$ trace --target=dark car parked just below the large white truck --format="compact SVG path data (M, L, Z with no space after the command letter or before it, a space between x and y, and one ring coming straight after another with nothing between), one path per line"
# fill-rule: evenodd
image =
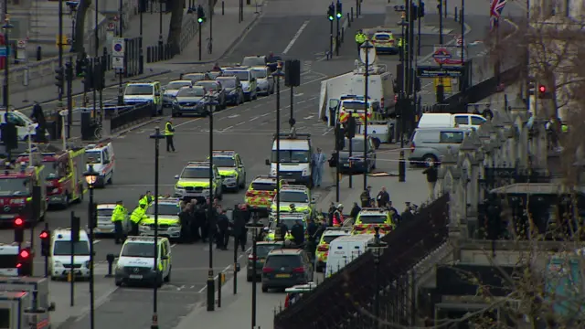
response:
M367 161L364 160L364 135L356 135L352 139L352 156L349 156L349 140L346 138L345 147L339 153L339 170L342 173L369 173L376 169L376 147L367 137Z

